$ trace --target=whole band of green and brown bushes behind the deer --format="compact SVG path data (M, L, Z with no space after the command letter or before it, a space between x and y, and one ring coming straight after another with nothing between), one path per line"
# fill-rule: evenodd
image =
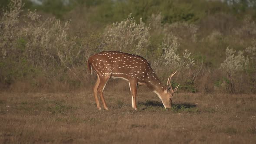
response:
M163 83L178 70L181 91L256 93L255 0L0 0L0 8L1 90L90 88L89 56L118 50L148 59Z

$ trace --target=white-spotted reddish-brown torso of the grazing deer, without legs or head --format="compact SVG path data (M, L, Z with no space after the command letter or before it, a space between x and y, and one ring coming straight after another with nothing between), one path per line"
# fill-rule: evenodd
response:
M92 68L99 76L146 79L153 75L148 61L141 56L124 52L103 51L89 58Z

